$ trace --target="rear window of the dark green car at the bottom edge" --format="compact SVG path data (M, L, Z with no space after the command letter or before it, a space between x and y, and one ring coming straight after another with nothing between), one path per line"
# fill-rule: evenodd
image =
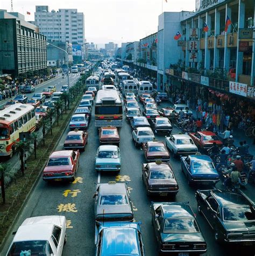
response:
M192 218L178 218L166 219L164 226L164 233L197 233L199 227L195 219Z

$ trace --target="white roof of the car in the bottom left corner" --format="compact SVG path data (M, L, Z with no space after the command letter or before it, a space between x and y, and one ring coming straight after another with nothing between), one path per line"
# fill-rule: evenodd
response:
M27 218L20 225L13 242L31 240L49 240L54 225L62 227L65 216L38 216Z

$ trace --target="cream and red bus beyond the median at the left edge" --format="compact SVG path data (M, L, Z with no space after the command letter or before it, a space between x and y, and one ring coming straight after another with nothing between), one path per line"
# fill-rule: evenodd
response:
M0 112L0 156L9 156L15 151L19 133L34 132L36 113L29 104L17 103Z

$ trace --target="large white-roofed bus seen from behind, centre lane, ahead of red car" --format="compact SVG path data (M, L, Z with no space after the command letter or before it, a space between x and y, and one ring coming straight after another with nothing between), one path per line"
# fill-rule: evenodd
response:
M122 100L118 91L112 89L99 90L96 94L95 103L95 126L123 125Z

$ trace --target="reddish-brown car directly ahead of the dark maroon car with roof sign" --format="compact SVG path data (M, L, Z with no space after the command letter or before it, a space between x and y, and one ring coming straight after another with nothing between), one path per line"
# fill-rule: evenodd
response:
M168 162L170 160L169 152L162 141L148 141L143 144L144 156L147 162L161 160Z

